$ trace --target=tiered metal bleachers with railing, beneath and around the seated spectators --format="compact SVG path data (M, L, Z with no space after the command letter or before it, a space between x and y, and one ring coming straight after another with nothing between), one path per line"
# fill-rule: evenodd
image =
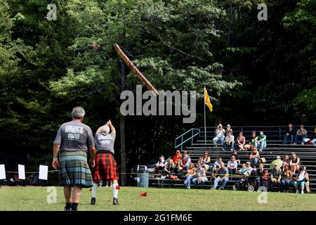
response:
M294 126L294 129L297 130L299 126ZM305 126L308 131L308 139L315 139L315 126ZM204 152L208 152L211 156L211 164L213 164L219 157L223 158L225 164L230 159L231 153L230 150L224 151L221 146L217 148L213 145L214 130L216 127L206 127L206 139L204 127L198 129L190 129L184 134L178 136L175 141L175 150L179 149L187 150L192 162L196 163L200 157L203 156ZM225 127L224 127L225 129ZM272 160L275 160L279 155L282 160L284 155L289 155L291 158L291 153L295 152L296 155L301 159L301 165L306 168L306 172L309 174L310 179L310 191L316 191L316 148L309 143L300 143L297 144L284 144L284 134L286 131L286 126L256 126L256 127L232 127L233 135L235 136L235 141L239 132L242 131L246 137L246 142L249 142L251 137L251 131L256 131L257 135L259 131L264 131L264 134L267 136L267 148L265 148L261 153L260 157L265 158L265 167L269 167ZM249 154L251 151L238 151L239 160L242 163L249 161ZM173 153L172 153L173 154ZM241 165L238 165L239 169ZM207 172L206 176L208 181L205 184L205 188L211 188L211 169ZM239 177L232 177L232 181L229 181L226 185L227 189L231 189ZM151 186L159 187L182 187L183 188L183 179L178 180L159 180L157 178L150 178Z

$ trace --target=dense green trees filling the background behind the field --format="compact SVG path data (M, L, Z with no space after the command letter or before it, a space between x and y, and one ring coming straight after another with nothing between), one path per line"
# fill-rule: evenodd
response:
M45 18L51 3L56 21ZM257 19L260 3L267 21ZM48 163L58 127L82 105L93 130L109 119L118 131L125 124L128 165L170 155L175 136L203 124L204 86L209 126L310 124L315 8L315 0L0 0L1 148ZM119 94L140 81L114 43L157 89L197 91L195 124L122 120Z

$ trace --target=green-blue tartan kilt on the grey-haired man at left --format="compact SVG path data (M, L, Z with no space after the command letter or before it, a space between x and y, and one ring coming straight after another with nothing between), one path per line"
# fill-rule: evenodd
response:
M61 151L59 163L61 186L81 186L81 188L92 186L93 181L86 152Z

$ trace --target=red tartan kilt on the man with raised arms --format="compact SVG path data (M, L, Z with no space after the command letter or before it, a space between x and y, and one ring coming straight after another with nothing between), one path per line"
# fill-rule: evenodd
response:
M119 179L119 170L117 161L113 155L100 153L96 155L96 167L93 169L93 182L98 184L99 181L112 181Z

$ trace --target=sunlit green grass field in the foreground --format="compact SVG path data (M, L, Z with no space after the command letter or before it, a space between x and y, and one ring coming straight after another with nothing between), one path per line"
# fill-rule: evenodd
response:
M47 187L1 187L0 210L58 211L65 205L62 187L57 203L47 203ZM147 192L148 197L139 197ZM112 188L99 188L96 205L90 205L91 191L83 189L80 211L91 210L316 210L316 195L268 193L268 203L258 203L258 192L186 190L180 188L121 187L120 205L112 205Z

